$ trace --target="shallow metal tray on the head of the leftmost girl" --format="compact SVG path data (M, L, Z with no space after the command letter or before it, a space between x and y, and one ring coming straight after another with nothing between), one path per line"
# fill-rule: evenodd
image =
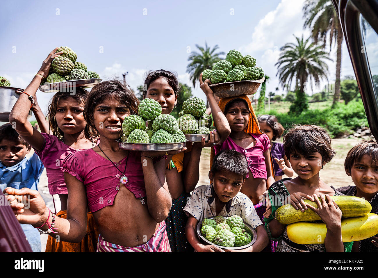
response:
M91 88L95 86L96 84L100 83L101 80L102 79L93 78L93 79L62 81L62 82L50 83L46 85L40 85L39 90L45 93L52 93L52 92L73 93L73 89L76 87Z

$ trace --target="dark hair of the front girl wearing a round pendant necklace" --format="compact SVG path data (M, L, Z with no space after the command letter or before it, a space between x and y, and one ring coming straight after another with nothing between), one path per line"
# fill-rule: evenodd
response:
M109 80L101 82L88 93L87 103L84 106L84 119L87 121L85 126L85 137L88 139L99 136L99 132L96 130L93 123L93 113L95 107L103 103L105 99L114 98L120 103L124 104L130 110L130 114L138 113L139 100L134 95L130 86L123 84L118 80Z

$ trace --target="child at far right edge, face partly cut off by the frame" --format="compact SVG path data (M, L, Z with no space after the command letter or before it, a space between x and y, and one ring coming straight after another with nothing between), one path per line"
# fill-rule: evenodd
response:
M371 213L378 214L378 144L373 140L356 144L348 152L344 167L355 185L337 190L345 195L366 199L372 205ZM352 252L378 252L377 242L378 235L355 241Z

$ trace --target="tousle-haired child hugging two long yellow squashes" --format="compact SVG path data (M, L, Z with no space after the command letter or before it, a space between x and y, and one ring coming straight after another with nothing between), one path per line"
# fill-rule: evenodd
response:
M271 240L279 241L277 252L350 252L353 242L343 244L341 238L341 210L330 196L339 195L319 177L319 171L335 156L331 138L319 126L296 126L283 136L283 148L298 177L286 178L273 183L268 189L271 210L267 210L265 228ZM321 198L321 201L318 199ZM286 232L287 225L280 224L274 215L276 210L288 202L296 210L314 210L325 223L327 235L324 244L296 244ZM314 208L304 202L310 199L318 204ZM277 202L277 203L276 203Z

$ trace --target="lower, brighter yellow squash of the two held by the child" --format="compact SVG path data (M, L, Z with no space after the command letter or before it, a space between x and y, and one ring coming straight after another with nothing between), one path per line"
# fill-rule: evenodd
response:
M324 243L327 228L324 223L297 222L287 225L288 238L297 244ZM378 215L369 213L341 220L343 242L360 241L378 233Z

